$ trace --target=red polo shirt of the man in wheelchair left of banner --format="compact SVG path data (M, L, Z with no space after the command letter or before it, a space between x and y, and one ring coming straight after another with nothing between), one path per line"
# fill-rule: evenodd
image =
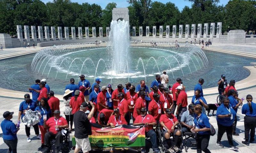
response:
M52 132L53 134L57 134L61 130L61 128L59 128L59 130L56 131L55 126L56 125L64 126L67 124L68 124L67 120L60 116L59 119L56 119L56 120L54 119L54 117L51 117L46 121L45 125L49 127L50 132Z

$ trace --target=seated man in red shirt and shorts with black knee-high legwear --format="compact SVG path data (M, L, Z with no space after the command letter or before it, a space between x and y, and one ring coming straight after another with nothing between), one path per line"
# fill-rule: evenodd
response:
M179 151L179 148L177 147L177 143L180 140L181 132L178 129L174 129L174 127L179 124L180 122L178 119L172 114L171 109L166 109L165 114L161 115L160 117L160 125L163 128L164 131L164 137L166 139L167 145L169 146L169 151L173 152L172 148L175 150L175 152ZM170 137L173 137L174 143L172 144Z

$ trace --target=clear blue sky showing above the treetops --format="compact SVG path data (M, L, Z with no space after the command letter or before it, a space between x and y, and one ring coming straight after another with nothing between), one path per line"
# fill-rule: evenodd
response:
M52 0L42 0L44 3L47 3L49 1L52 1ZM71 0L72 2L77 2L79 4L82 4L82 3L89 3L89 4L98 4L101 6L102 9L104 9L106 7L106 5L108 3L111 3L111 2L115 2L117 4L117 7L127 7L129 6L128 2L126 2L126 0ZM184 0L152 0L152 1L158 1L158 2L162 2L162 3L167 3L167 2L172 2L174 3L178 8L179 10L181 11L184 6L191 6L191 2L188 2L188 1L184 1ZM228 3L229 0L220 0L220 3L219 5L226 5Z

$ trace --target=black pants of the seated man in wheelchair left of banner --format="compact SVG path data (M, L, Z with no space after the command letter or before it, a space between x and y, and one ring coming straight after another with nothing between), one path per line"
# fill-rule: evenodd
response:
M57 134L53 134L52 132L46 132L46 134L44 135L44 145L47 145L49 147L53 138L56 139L55 148L60 147L60 142L62 142L61 131L59 131Z

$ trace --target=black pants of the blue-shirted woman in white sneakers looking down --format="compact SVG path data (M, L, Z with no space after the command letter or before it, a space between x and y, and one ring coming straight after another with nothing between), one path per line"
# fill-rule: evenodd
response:
M228 137L229 145L234 146L233 137L232 137L232 130L233 130L232 125L231 126L223 126L223 125L218 123L217 142L221 141L221 138L222 138L223 134L226 132L227 137Z

